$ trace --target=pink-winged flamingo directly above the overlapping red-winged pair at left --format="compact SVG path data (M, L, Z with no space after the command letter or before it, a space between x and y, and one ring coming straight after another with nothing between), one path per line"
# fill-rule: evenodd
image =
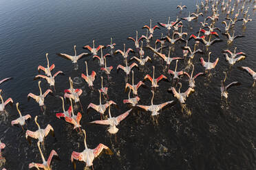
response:
M81 90L79 88L73 88L73 81L71 80L71 77L69 78L69 80L70 80L70 88L64 90L64 93L65 93L64 98L67 97L67 98L73 99L75 103L77 103L77 102L80 103L79 96L82 95L83 90Z

